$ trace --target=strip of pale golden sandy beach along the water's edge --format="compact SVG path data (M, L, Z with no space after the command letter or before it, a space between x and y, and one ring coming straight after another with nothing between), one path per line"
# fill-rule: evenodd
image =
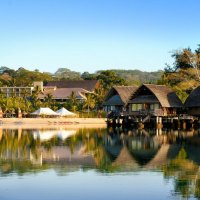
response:
M1 118L0 129L106 128L105 118Z

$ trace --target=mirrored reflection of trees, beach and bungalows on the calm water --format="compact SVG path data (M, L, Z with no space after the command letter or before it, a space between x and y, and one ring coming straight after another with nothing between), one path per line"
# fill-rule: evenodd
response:
M174 195L200 198L199 145L200 130L1 129L0 173L153 170L174 180Z

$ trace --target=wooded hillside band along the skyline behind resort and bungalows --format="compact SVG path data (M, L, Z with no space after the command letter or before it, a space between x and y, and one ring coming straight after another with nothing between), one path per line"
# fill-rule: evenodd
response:
M76 72L68 68L59 68L55 73L40 72L39 70L17 70L6 66L0 67L0 86L30 86L34 81L58 81L58 80L95 80L103 71L113 71L117 77L122 78L128 85L139 85L141 83L157 83L161 80L163 71L143 72L140 70L101 70L93 74L89 72ZM112 78L111 78L112 79Z

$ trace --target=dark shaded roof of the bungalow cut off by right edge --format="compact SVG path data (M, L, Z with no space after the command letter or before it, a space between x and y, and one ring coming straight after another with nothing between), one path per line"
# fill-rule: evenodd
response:
M200 107L200 86L188 96L185 101L185 107Z

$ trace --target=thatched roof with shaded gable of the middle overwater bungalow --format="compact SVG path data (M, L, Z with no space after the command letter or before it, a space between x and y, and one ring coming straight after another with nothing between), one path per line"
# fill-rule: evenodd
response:
M143 91L143 94L140 94L141 91ZM145 98L142 98L141 103L152 103L157 98L162 107L182 107L182 103L176 93L165 85L143 84L131 95L128 103L135 103L134 99L142 95L146 96L146 102L144 102ZM152 95L156 98L152 98ZM137 103L139 102L137 101Z

